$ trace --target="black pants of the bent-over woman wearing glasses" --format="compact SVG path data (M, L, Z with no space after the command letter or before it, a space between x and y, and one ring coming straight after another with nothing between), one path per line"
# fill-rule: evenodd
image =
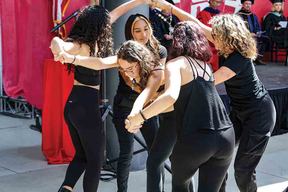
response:
M149 151L147 167L147 192L162 192L164 162L173 151L177 139L175 111L159 114L160 127ZM189 185L190 192L195 192L194 179Z

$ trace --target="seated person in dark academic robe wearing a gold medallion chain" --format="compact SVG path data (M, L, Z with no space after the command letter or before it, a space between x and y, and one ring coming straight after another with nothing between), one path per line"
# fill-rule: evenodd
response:
M174 5L172 0L166 1ZM149 16L154 28L154 36L169 51L173 43L173 37L170 35L170 32L173 30L175 24L179 22L179 19L171 14L171 10L162 9L159 11L158 9L154 9L151 10L150 14L155 14L155 16Z

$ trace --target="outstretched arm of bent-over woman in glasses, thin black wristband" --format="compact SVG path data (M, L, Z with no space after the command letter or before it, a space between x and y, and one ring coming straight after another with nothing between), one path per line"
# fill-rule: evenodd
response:
M94 70L108 69L118 66L117 56L111 56L103 59L98 57L70 55L66 52L60 52L59 61L61 63L73 63L75 65L84 66Z

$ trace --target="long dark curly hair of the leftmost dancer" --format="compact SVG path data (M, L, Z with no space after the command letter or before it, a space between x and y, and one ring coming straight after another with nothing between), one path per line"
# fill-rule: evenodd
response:
M91 57L94 57L96 46L98 57L103 58L105 52L108 56L112 55L114 45L109 11L99 5L82 8L65 41L87 44ZM68 75L74 70L75 65L67 64Z

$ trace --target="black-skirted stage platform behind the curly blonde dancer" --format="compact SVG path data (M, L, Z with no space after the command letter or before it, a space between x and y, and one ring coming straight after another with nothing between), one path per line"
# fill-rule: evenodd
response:
M260 81L268 90L276 108L276 124L272 135L288 132L288 66L284 63L268 62L266 66L255 66ZM230 98L224 83L216 85L227 113L230 112Z

